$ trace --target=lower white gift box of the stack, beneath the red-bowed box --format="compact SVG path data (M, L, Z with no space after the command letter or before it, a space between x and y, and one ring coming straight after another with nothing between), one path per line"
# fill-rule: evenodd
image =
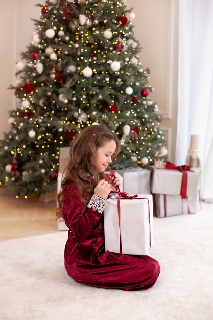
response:
M198 195L181 199L181 196L176 195L153 194L154 214L158 218L165 218L182 213L196 213L198 198Z

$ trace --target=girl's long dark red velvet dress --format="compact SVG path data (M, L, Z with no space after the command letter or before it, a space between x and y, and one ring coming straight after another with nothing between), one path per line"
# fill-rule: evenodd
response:
M103 213L92 204L82 215L83 207L77 187L68 184L63 204L63 219L69 228L64 252L68 275L77 282L99 288L125 291L151 288L160 273L158 262L149 256L105 252Z

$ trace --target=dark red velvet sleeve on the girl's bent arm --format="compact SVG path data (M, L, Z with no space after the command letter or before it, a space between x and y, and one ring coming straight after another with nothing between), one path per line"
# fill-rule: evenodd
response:
M86 239L101 217L98 210L92 207L87 207L84 214L82 214L83 209L84 204L80 200L78 188L68 184L64 192L63 219L79 241Z

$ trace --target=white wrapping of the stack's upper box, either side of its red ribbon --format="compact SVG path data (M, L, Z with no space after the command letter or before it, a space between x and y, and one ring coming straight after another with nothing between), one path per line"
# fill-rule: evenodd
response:
M196 196L198 190L199 173L187 172L187 196ZM159 194L180 195L182 172L171 169L152 169L151 192Z

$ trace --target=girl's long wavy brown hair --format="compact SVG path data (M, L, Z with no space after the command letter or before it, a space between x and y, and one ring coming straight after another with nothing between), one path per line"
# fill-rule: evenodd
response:
M98 182L104 178L104 174L97 170L96 151L111 140L116 143L116 149L112 155L112 159L114 159L120 152L120 141L116 134L105 125L93 125L85 128L72 142L69 161L63 173L65 177L61 182L61 191L57 195L57 218L62 216L64 190L70 182L77 186L85 211L91 193L93 193ZM110 168L108 167L107 170L110 170Z

